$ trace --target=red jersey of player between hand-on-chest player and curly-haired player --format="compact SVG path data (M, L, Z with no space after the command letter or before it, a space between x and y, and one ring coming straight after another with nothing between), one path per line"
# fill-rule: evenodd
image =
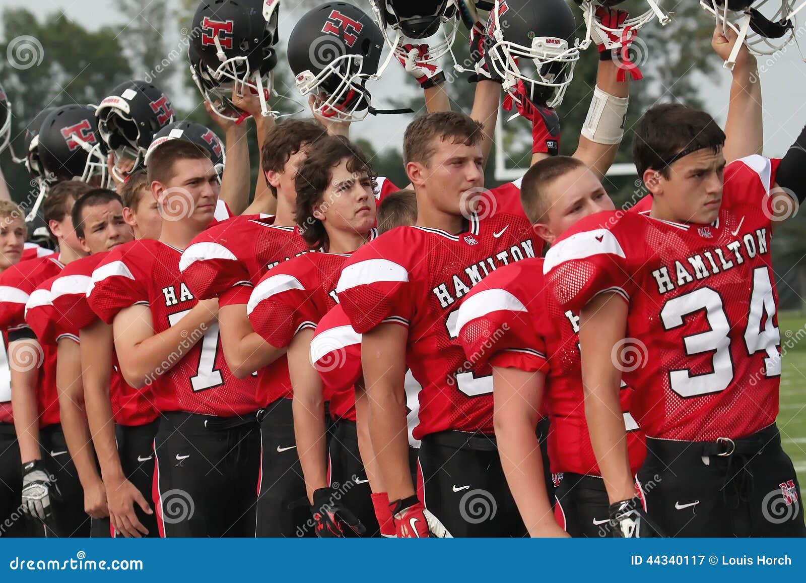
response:
M219 306L246 304L252 287L282 261L310 252L294 227L274 224L274 217L235 217L198 235L182 253L179 268L200 299L218 297ZM285 355L257 372L263 405L291 397Z

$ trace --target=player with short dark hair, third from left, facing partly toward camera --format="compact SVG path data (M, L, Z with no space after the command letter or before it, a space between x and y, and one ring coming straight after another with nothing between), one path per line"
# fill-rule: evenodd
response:
M79 310L74 298L86 298L89 275L103 254L128 243L134 235L123 221L123 204L112 190L94 189L82 194L70 214L79 244L89 256L72 261L56 277L39 285L28 299L25 319L40 344L56 346L56 389L64 439L84 491L85 512L93 518L92 536L108 537L106 491L94 452L87 447L90 434L81 383L78 333L88 310Z

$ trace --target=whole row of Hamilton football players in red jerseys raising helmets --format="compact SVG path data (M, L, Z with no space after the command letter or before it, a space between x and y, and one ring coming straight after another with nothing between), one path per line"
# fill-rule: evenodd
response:
M48 113L26 158L58 252L23 258L23 211L0 202L0 535L806 535L775 426L769 251L806 196L806 131L783 159L760 155L754 56L718 26L725 131L687 106L647 110L632 130L647 194L616 210L600 180L640 24L580 2L600 63L579 147L559 156L551 106L577 45L570 8L549 3L539 38L566 45L540 56L538 80L499 71L485 39L511 31L509 10L546 23L546 6L494 2L474 23L471 115L450 111L428 45L394 40L429 111L403 137L403 190L347 138L372 108L358 77L323 90L289 41L297 84L315 78L318 93L314 120L283 122L261 81L276 57L247 65L254 87L237 77L226 50L243 48L241 24L276 27L272 0L202 2L194 19L193 72L226 159L142 81L98 110ZM305 22L345 50L376 26L344 2ZM502 86L533 156L522 179L485 189ZM251 203L249 116L265 178Z

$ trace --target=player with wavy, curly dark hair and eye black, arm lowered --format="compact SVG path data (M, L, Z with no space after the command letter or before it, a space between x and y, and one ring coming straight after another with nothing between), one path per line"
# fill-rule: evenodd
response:
M288 349L294 435L319 536L378 531L361 463L354 399L323 394L310 361L311 336L336 303L334 289L344 261L374 235L374 181L366 156L346 138L318 140L297 172L295 217L310 248L322 252L272 268L247 304L252 328L273 347ZM329 448L326 400L334 421Z

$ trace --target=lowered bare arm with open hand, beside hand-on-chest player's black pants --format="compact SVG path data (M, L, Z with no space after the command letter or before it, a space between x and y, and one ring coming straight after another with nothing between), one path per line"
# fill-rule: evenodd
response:
M137 504L146 514L152 514L153 510L139 489L127 480L120 464L110 399L113 343L112 326L101 319L81 329L81 379L89 431L106 488L110 521L121 535L139 537L147 535L148 529L137 518L134 505Z

